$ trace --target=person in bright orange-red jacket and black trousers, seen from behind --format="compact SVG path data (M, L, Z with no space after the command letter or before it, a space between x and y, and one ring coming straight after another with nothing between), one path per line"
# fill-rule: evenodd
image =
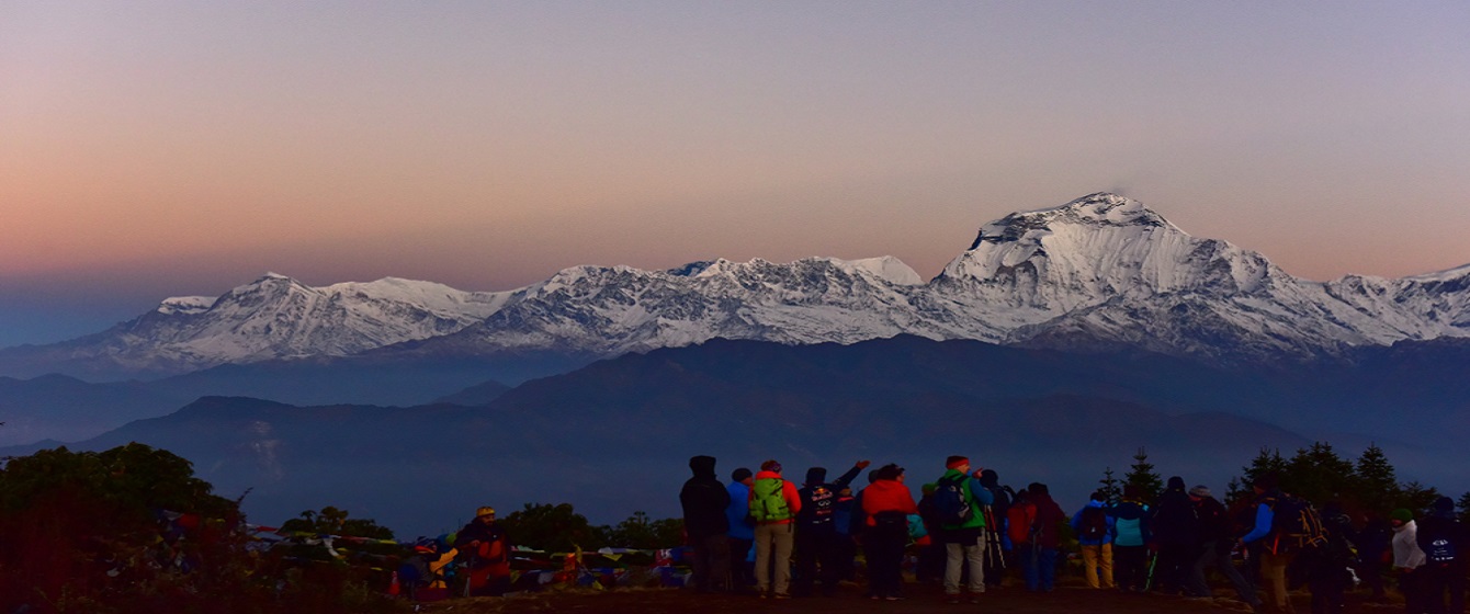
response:
M919 514L914 495L904 486L904 470L885 464L873 483L863 489L863 511L867 530L863 548L867 551L867 577L873 599L903 599L903 561L908 545L908 514Z

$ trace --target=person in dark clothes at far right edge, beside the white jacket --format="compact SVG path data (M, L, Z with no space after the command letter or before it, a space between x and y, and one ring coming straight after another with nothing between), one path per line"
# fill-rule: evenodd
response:
M1455 517L1455 502L1448 496L1435 499L1433 507L1419 521L1416 543L1424 552L1424 599L1432 613L1464 614L1466 561L1470 560L1470 536ZM1448 610L1445 593L1449 593Z

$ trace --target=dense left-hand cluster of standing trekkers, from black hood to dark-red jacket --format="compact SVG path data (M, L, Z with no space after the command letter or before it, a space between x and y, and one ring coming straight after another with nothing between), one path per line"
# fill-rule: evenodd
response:
M911 543L942 552L942 582L951 602L978 601L998 586L1008 566L1019 566L1029 590L1051 590L1067 516L1047 485L1016 492L989 469L948 457L944 473L914 499L907 473L885 464L853 480L870 466L853 464L828 480L811 467L801 486L782 476L775 460L731 473L722 483L716 460L689 460L694 477L679 494L685 533L692 549L692 583L701 592L747 592L785 599L833 595L854 579L861 545L867 561L867 596L903 599L903 563ZM754 549L754 557L751 557ZM753 560L751 560L753 558ZM792 566L795 576L792 577Z

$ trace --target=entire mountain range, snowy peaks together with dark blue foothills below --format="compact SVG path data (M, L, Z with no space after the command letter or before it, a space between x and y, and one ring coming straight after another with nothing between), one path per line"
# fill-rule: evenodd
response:
M487 501L675 516L694 454L916 479L972 454L1079 505L1139 447L1223 489L1261 447L1376 442L1458 494L1467 297L1470 266L1304 281L1111 194L991 222L928 282L889 257L507 292L268 275L0 350L0 455L140 441L250 489L257 521L338 505L423 532Z

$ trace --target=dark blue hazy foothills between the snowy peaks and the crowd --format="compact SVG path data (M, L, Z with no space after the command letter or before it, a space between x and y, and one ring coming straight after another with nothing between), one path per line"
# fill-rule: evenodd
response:
M898 461L913 485L942 473L945 455L969 454L1007 483L1050 483L1070 508L1105 467L1126 473L1139 447L1164 476L1223 491L1263 447L1291 455L1330 441L1355 458L1376 442L1401 479L1458 494L1470 489L1460 472L1470 455L1457 445L1470 435L1470 386L1463 367L1414 366L1466 364L1470 344L1442 345L1360 357L1366 367L1280 373L907 335L848 345L714 339L490 386L472 392L491 398L481 405L207 397L72 448L171 449L222 495L248 489L254 521L337 505L410 533L454 529L482 502L566 501L600 521L637 510L676 516L694 454L719 457L722 476L778 458L797 480L810 466Z

